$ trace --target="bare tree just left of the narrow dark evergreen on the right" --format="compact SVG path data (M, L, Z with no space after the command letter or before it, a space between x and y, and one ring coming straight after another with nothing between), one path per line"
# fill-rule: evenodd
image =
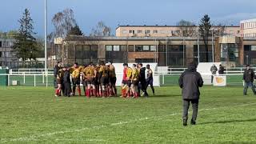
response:
M179 29L182 31L181 35L182 37L195 37L196 35L196 27L193 22L181 20L177 23L179 26Z

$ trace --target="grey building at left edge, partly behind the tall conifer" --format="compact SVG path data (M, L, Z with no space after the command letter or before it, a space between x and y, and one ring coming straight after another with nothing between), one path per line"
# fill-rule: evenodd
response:
M15 57L12 46L14 46L14 38L0 35L0 66L17 67L19 62Z

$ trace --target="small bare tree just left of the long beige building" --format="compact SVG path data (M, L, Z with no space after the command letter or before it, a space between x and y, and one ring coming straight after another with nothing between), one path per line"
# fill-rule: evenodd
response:
M112 36L111 28L100 21L97 26L91 30L90 36Z

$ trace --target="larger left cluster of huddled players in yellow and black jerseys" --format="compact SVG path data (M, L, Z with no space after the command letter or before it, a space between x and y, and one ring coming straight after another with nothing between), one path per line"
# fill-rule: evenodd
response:
M72 79L72 90L70 82L70 74ZM74 95L76 88L79 96L81 96L80 83L83 85L83 90L87 98L90 96L95 97L109 97L117 95L116 74L114 66L111 62L101 62L100 65L94 66L92 62L86 66L78 66L78 63L74 63L74 66L62 66L58 62L54 68L54 86L55 96L61 96L61 91L64 96Z

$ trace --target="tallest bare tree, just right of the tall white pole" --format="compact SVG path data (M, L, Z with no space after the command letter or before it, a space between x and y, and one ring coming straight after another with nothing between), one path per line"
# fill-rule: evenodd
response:
M74 11L71 9L65 9L57 14L54 14L51 22L54 24L54 37L65 38L66 34L71 30L72 27L76 26L74 19Z

